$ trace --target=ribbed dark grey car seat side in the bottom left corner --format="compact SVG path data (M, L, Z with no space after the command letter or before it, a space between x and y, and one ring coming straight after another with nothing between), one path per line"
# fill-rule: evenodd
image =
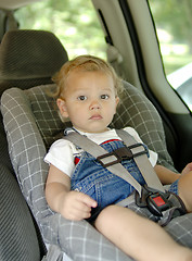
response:
M3 164L0 164L0 260L39 261L31 215L16 179Z

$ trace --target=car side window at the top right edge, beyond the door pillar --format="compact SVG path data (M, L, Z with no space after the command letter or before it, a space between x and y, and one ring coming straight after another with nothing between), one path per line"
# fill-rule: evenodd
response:
M192 110L192 1L149 0L169 84Z

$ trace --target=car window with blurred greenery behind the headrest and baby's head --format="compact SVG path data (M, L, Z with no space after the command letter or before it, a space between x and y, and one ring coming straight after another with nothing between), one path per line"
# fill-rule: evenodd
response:
M46 29L54 33L69 59L80 54L106 58L106 44L90 0L49 0L15 12L20 29Z

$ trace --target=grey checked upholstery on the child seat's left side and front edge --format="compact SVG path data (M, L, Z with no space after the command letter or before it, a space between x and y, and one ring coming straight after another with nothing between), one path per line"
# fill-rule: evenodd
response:
M1 99L1 111L12 164L22 192L39 224L44 241L59 245L73 260L90 261L91 257L93 260L102 261L130 260L89 223L67 221L60 214L53 213L46 202L43 189L49 166L43 162L46 147L37 127L40 119L35 119L31 111L33 108L36 108L35 114L40 115L39 109L41 111L44 108L42 109L42 112L44 111L42 119L49 117L53 122L59 121L57 114L52 115L52 100L49 105L47 99L44 100L46 88L49 86L35 87L26 91L12 88L8 89ZM27 97L29 92L30 98ZM41 97L39 102L37 97ZM31 105L29 99L39 105ZM49 121L50 132L55 132L56 124L52 121Z

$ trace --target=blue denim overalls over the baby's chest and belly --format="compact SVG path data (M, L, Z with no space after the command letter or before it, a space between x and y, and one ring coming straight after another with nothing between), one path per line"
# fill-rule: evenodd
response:
M121 141L101 145L108 152L124 147ZM141 184L145 182L133 160L123 161L123 165ZM72 189L82 191L97 200L100 209L127 198L135 188L123 178L104 169L91 154L82 152L72 175Z

